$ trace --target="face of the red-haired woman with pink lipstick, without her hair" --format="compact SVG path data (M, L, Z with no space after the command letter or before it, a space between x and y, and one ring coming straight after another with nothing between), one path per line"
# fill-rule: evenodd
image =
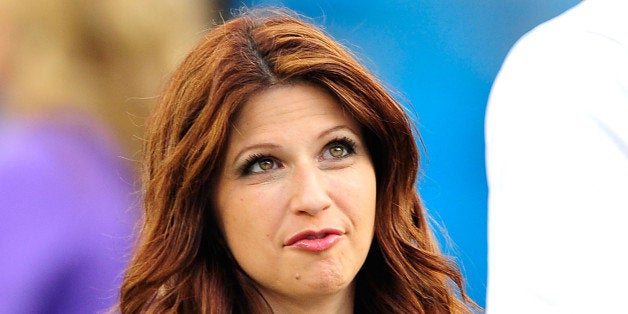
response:
M324 89L275 86L231 131L216 208L271 305L352 300L373 240L375 171L360 127Z

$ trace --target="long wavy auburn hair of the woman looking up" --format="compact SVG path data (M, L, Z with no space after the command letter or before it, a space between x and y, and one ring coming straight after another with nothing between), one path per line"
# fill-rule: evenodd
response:
M144 224L121 289L123 313L269 310L219 231L213 191L238 109L257 92L296 82L339 100L363 128L374 161L375 239L356 278L356 310L469 311L462 275L439 252L415 188L419 152L402 106L321 30L263 10L210 31L150 119Z

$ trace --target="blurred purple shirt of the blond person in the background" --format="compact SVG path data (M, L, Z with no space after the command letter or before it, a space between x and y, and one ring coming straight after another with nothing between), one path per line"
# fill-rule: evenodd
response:
M117 302L135 180L83 115L0 124L0 313L98 313Z

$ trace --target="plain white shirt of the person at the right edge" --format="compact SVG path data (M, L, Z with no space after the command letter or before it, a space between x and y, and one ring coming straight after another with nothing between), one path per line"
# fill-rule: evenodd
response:
M628 313L628 1L513 47L486 114L488 313Z

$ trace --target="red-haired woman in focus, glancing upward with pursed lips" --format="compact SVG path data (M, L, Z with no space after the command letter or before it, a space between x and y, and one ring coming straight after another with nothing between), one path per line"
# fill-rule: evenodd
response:
M469 312L412 134L374 77L289 13L212 30L150 121L122 312Z

